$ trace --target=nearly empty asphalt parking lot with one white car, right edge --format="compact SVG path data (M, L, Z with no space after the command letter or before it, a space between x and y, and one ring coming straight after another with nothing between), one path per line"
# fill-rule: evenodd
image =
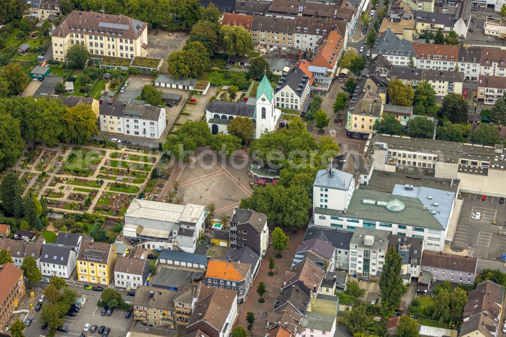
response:
M501 229L506 230L506 205L499 204L497 197L481 200L478 194L461 193L461 198L451 249L469 249L474 257L500 260L506 252L506 236L499 235Z

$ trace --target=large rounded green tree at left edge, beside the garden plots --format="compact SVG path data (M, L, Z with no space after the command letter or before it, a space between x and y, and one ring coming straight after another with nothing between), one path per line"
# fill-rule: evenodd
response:
M25 142L21 138L20 122L0 112L0 171L14 166L23 154ZM5 202L5 199L3 199Z

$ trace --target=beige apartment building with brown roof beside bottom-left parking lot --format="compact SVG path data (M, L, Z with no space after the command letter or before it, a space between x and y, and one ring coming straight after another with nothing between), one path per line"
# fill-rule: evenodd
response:
M175 330L176 291L139 286L135 291L134 320L154 327Z

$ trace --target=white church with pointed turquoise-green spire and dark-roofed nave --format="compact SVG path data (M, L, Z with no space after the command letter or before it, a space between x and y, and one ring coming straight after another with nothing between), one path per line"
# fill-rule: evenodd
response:
M265 75L257 88L255 100L250 98L246 103L213 101L205 106L205 120L213 135L220 132L227 134L230 121L237 116L244 116L253 119L255 138L260 138L263 132L276 129L281 114L281 110L275 107L274 90Z

